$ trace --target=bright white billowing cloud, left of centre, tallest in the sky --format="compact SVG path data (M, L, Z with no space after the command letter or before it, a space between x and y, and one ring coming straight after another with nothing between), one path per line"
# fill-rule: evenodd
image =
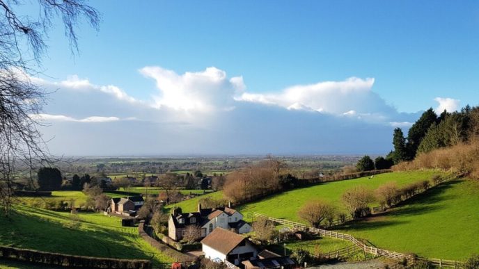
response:
M208 67L202 72L176 74L162 67L143 67L141 74L155 79L159 95L154 97L155 107L168 107L178 111L211 112L217 108L228 110L233 96L246 89L243 78L228 79L226 72Z

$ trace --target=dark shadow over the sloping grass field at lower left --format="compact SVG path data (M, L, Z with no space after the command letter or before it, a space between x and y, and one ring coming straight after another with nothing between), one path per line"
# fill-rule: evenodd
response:
M120 259L150 259L154 255L141 250L141 245L134 246L141 238L121 227L118 230L102 227L71 229L61 222L22 211L14 213L10 220L0 219L0 225L0 245Z

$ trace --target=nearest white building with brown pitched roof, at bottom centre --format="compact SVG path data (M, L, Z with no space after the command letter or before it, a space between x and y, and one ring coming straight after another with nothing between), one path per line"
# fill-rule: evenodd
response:
M205 258L212 261L229 261L236 266L258 256L256 245L248 238L221 227L203 238L201 245Z

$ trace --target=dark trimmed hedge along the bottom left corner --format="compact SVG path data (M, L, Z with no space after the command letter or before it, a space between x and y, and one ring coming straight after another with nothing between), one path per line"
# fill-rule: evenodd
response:
M0 257L32 263L44 263L52 266L79 267L79 268L151 268L151 262L140 259L111 259L91 256L74 256L61 253L26 250L17 247L0 246Z

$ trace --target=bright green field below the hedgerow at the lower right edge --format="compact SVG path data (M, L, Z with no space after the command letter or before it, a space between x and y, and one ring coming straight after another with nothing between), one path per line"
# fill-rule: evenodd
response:
M464 261L479 254L479 182L448 182L340 231L386 250Z

